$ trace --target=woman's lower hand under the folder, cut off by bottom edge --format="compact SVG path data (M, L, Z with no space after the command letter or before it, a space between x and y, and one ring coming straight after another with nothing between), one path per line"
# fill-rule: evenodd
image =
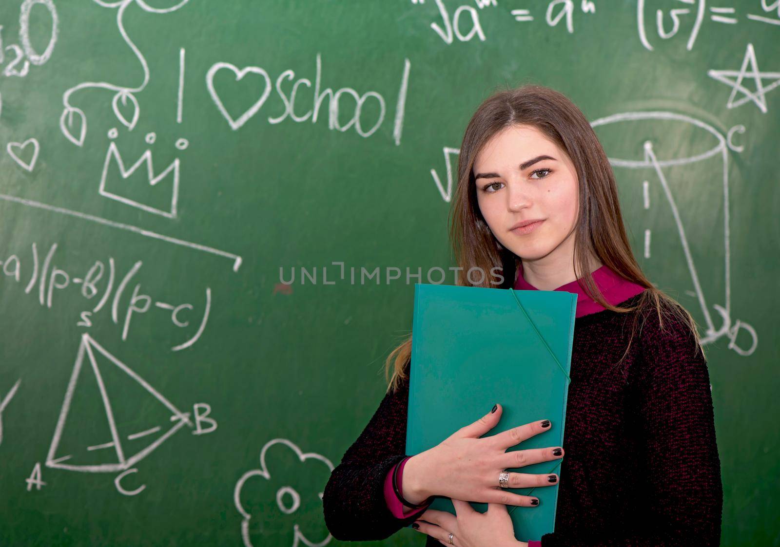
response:
M515 539L512 519L502 503L488 503L480 513L469 503L452 499L456 514L429 509L418 517L417 530L430 535L442 545L456 547L528 547ZM427 522L423 522L427 521ZM452 534L452 544L449 535Z

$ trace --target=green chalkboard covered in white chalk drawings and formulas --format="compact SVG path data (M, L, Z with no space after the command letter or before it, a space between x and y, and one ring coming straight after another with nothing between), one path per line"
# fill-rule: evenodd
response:
M704 334L723 544L780 545L778 23L758 0L0 2L0 545L338 543L319 495L413 284L454 283L463 129L526 82L592 121L641 266Z

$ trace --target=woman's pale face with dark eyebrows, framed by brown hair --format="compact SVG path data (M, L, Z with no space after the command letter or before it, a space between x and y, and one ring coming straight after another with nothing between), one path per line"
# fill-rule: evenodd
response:
M488 141L473 171L480 211L498 242L523 262L571 263L580 200L563 150L535 127L513 125ZM541 222L512 229L523 221Z

